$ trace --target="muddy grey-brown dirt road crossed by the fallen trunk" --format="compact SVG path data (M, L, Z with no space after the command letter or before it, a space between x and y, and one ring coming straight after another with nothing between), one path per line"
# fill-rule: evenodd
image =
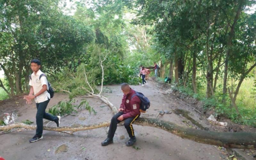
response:
M149 81L149 84L145 86L136 85L131 87L138 92L143 92L151 101L147 114L142 114L141 116L156 117L159 113L158 111L172 111L175 108L180 108L191 112L190 116L204 127L212 127L205 119L201 119L199 113L191 107L189 108L180 100L163 94L163 91L156 88L156 84L153 81ZM119 108L123 96L120 85L105 86L103 95L108 97L110 102ZM68 100L68 95L56 94L48 106L52 106L64 99ZM78 104L80 100L81 98L77 98L76 103ZM77 114L63 117L60 125L94 124L111 119L113 116L111 109L101 100L97 98L88 98L87 100L90 106L97 111L96 115L90 115L87 110L83 109ZM15 122L26 119L36 120L35 103L25 104L22 97L14 99L12 103L0 103L0 105L0 117L3 116L4 112L11 113L15 111L19 115ZM186 118L174 113L160 115L158 118L180 125L195 127L189 124ZM55 127L56 124L50 123L48 126ZM73 135L44 131L43 140L34 143L30 143L28 140L34 136L35 130L1 134L0 156L5 160L216 160L228 157L228 155L225 155L226 152L218 146L181 139L176 135L153 127L134 125L134 129L137 142L133 147L125 146L129 137L124 126L117 127L114 143L105 147L101 146L100 143L106 139L108 128L75 132Z

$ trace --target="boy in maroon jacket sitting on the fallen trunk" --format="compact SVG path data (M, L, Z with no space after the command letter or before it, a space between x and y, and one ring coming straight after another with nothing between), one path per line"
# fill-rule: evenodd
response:
M140 98L132 95L136 94L129 84L123 83L121 85L121 90L124 93L122 98L122 103L118 109L118 113L112 117L111 123L108 130L108 138L101 142L102 146L107 146L110 143L113 143L113 137L116 132L117 124L124 120L124 127L126 128L130 140L126 143L126 146L132 146L136 142L136 137L134 136L134 131L132 123L140 117Z

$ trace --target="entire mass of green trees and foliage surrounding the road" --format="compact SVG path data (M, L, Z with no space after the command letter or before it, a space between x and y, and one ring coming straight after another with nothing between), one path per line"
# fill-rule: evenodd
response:
M139 84L139 66L156 61L161 78L170 76L204 109L255 125L248 114L255 115L256 13L246 12L255 3L81 0L67 14L61 0L2 0L1 98L28 92L34 58L71 98L98 92L103 73L104 85Z

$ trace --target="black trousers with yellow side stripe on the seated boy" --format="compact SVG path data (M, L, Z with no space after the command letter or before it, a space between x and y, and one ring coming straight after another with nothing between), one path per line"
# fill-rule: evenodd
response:
M109 130L108 130L108 138L113 139L116 132L117 124L121 122L117 118L123 114L124 114L123 112L118 112L115 116L112 117ZM124 120L124 127L126 128L130 138L135 137L132 123L139 117L140 115L137 115L135 117L130 117Z

